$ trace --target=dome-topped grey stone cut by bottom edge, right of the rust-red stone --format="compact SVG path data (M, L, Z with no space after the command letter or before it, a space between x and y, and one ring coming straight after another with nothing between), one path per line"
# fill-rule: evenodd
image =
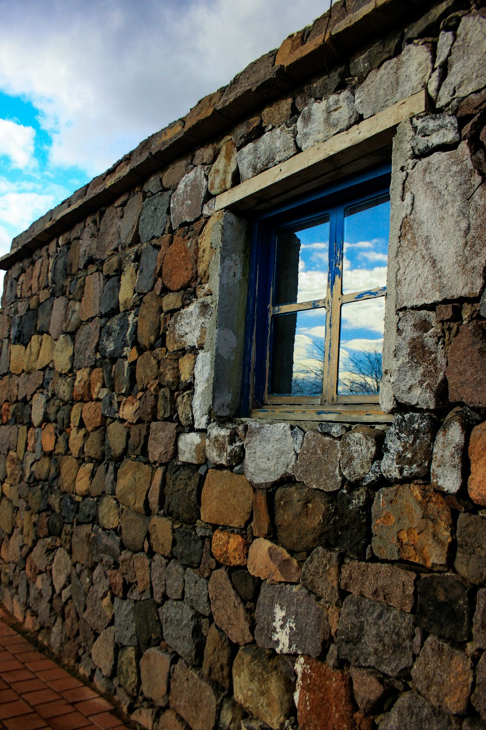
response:
M438 710L418 692L406 692L380 723L380 730L458 730L457 718Z

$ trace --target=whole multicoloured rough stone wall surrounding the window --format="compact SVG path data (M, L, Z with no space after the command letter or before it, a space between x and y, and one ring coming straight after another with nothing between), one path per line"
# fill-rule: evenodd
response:
M0 598L142 726L486 722L485 37L466 0L337 3L4 257ZM391 423L238 418L247 223L216 196L423 88Z

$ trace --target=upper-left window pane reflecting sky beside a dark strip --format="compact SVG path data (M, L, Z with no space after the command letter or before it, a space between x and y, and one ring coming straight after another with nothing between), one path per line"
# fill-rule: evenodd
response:
M329 215L277 231L273 304L324 299L329 257Z

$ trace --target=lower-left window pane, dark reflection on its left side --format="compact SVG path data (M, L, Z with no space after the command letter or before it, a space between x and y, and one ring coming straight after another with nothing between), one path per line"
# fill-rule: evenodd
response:
M270 395L321 396L326 310L272 318Z

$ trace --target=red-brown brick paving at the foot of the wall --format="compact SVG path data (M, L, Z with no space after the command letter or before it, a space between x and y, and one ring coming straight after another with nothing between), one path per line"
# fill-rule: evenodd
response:
M127 730L112 705L15 631L0 607L0 730Z

